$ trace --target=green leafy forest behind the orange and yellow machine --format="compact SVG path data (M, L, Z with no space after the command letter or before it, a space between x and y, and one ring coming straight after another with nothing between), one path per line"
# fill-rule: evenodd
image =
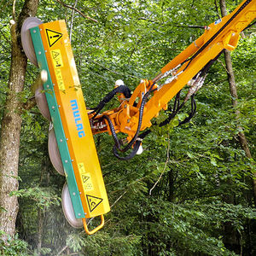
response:
M31 5L26 6L28 3ZM256 254L252 185L255 27L243 32L231 53L238 98L230 94L231 73L227 73L222 55L196 95L194 119L177 126L178 119L189 113L187 104L170 125L152 128L143 142L143 154L120 161L112 154L112 137L95 137L111 212L106 215L104 228L94 236L73 229L63 216L61 189L65 178L51 166L49 123L33 104L31 85L38 69L30 61L26 66L19 48L19 21L24 14L37 15L44 22L66 20L84 99L88 107L95 107L113 90L117 79L134 90L140 79L154 78L203 33L204 26L220 18L220 3L224 1L0 1L0 185L1 193L8 191L9 199L14 199L10 204L16 212L15 199L19 201L16 222L8 218L15 229L6 229L8 222L1 226L0 255ZM228 0L228 13L239 3ZM10 67L15 65L11 56L14 60L15 55L23 55L23 66L16 67L16 74L22 68L26 71L25 79L23 76L18 81L24 82L18 92L10 83L14 73ZM5 161L3 130L11 97L19 106L14 114L19 115L20 124L22 121L20 136L13 138L20 150ZM116 100L108 108L117 105ZM166 113L160 113L156 121L165 118ZM16 131L18 126L14 127ZM249 154L244 144L241 147L241 136L247 138ZM17 166L8 172L3 163L11 166L15 160ZM15 187L4 190L8 178ZM0 210L5 214L3 205Z

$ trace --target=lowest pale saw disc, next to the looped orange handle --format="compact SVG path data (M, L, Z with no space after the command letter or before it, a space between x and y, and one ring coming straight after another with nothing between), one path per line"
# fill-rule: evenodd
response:
M61 205L67 222L76 229L83 228L82 218L76 218L73 211L73 204L69 195L67 183L64 184L61 194Z

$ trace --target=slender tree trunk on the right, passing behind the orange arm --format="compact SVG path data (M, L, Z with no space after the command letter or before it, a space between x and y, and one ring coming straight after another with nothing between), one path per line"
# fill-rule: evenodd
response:
M220 3L221 15L222 16L228 15L225 0L220 0L219 3ZM228 78L229 78L230 94L232 96L232 105L236 109L235 110L236 118L239 119L240 112L237 109L236 80L235 80L235 75L233 72L230 51L228 49L224 50L224 58L225 58L225 63L226 63L226 68L227 68L227 73L228 73ZM238 133L238 139L239 139L241 148L244 150L247 158L251 159L252 154L248 147L247 138L245 137L244 133L242 132L242 130L243 130L242 127L240 125L238 125L238 128L240 130L240 132ZM253 182L252 183L253 183L253 201L254 201L254 206L256 207L256 172L253 173Z

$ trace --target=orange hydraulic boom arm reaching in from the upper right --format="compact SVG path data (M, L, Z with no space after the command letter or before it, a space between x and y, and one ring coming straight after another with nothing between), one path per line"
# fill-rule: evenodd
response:
M240 32L242 32L256 17L256 1L244 0L230 15L216 20L206 26L204 34L184 49L172 61L161 69L161 72L152 80L143 80L137 86L130 99L120 101L119 108L114 108L94 116L91 125L94 134L108 132L113 134L119 131L127 134L127 142L135 143L138 131L150 127L151 119L157 117L160 110L167 109L167 103L172 100L191 79L196 80L191 87L195 90L188 93L186 101L201 88L208 68L224 49L236 49ZM157 85L166 77L166 83ZM195 81L193 81L195 83ZM144 101L152 84L154 84L148 101ZM150 91L149 91L150 92ZM140 111L143 105L143 113ZM108 116L108 119L102 118ZM141 118L140 118L141 116ZM90 119L92 115L89 114ZM108 120L108 121L107 121ZM112 125L109 125L111 121ZM116 145L114 148L117 148ZM126 147L125 147L126 148ZM114 150L115 152L115 150Z

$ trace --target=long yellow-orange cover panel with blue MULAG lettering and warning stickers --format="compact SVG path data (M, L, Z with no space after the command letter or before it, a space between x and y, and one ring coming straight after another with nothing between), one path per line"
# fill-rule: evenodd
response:
M110 210L108 196L65 21L39 28L85 217L102 216Z

